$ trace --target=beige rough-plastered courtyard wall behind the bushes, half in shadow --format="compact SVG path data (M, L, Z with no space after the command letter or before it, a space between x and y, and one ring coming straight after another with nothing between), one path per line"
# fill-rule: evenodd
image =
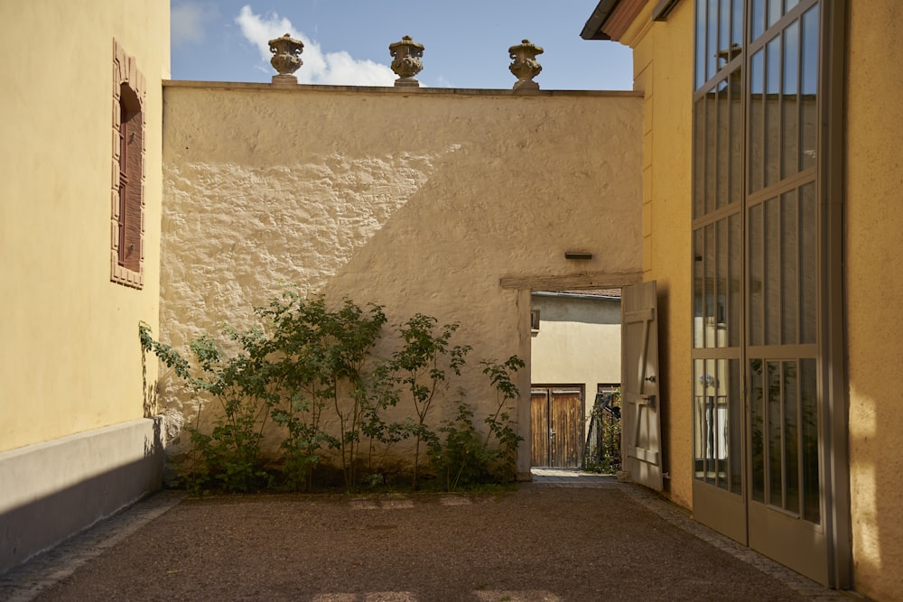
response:
M528 285L501 278L639 269L633 93L173 82L164 99L159 335L174 346L242 326L284 283L383 304L390 324L424 312L461 323L480 415L477 360L529 357ZM191 418L163 387L167 412Z

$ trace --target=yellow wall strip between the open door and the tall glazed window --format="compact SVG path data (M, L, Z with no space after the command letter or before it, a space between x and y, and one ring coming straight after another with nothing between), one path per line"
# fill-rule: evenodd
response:
M648 3L621 42L634 49L634 88L643 100L643 280L658 293L659 391L666 493L693 504L693 416L688 392L693 3L682 2L664 23L651 23ZM651 24L649 24L651 23Z

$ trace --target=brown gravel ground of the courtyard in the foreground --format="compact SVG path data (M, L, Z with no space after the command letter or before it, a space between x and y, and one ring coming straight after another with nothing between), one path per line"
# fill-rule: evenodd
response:
M112 542L82 543L89 558L71 570L77 551L44 560L56 577L40 587L27 565L0 579L0 599L844 599L717 534L701 539L691 532L704 527L638 486L549 485L175 500Z

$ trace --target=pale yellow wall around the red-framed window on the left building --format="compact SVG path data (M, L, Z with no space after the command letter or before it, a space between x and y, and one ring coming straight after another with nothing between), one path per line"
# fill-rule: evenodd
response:
M137 328L159 307L169 2L2 2L0 23L3 451L144 413ZM147 80L142 291L110 282L114 39Z

